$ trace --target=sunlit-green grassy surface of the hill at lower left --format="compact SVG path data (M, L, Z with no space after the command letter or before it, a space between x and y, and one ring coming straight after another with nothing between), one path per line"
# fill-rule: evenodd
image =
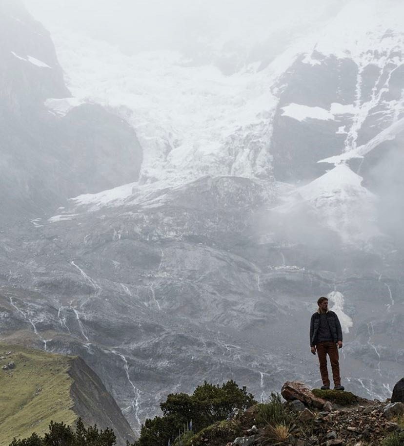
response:
M4 357L0 360L0 446L32 432L42 435L51 420L69 425L76 421L67 373L73 357L1 342L0 357ZM9 361L15 362L15 368L3 370Z

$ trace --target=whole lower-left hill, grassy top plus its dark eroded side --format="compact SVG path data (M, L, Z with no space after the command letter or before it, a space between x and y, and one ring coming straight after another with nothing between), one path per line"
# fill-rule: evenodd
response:
M114 429L117 444L133 440L134 433L100 378L81 359L0 344L3 393L0 442L14 437L42 435L52 421Z

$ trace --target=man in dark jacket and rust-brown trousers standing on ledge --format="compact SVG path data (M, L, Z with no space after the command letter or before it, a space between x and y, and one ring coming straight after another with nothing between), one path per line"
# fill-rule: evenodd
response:
M328 379L327 354L330 357L332 378L335 390L343 390L340 377L338 349L342 348L342 329L338 316L328 310L328 299L320 297L317 301L319 309L310 320L310 347L313 355L319 356L322 390L330 388ZM338 348L337 348L338 345Z

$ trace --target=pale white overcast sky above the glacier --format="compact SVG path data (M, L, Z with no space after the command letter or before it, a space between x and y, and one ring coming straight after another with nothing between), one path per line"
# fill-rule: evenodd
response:
M259 42L317 26L348 0L24 0L50 31L71 28L125 51L182 49L220 40ZM283 31L284 32L284 31Z

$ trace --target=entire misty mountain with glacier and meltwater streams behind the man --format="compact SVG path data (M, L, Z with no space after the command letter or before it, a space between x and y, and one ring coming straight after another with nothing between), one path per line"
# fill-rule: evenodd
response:
M74 98L46 31L3 9L26 46L1 40L1 337L80 354L138 431L167 393L205 379L257 399L285 379L319 383L308 323L326 295L343 383L389 397L404 361L403 34L390 11L359 43L337 39L358 4L316 42L230 77L162 69L165 55L141 77L140 58L59 46ZM42 52L23 38L34 26ZM157 78L144 93L162 73L183 89Z

